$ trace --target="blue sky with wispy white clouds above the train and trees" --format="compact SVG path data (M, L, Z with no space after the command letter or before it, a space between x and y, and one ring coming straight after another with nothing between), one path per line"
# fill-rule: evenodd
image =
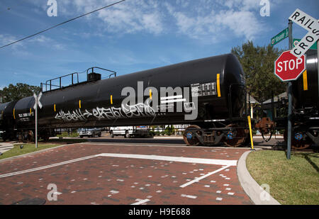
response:
M49 17L47 0L0 0L0 46L113 2L57 0L57 16ZM129 74L225 54L247 40L264 46L297 8L319 18L318 0L269 2L263 17L261 0L126 0L0 49L0 89L93 66ZM293 25L293 38L305 34ZM275 46L287 49L288 40Z

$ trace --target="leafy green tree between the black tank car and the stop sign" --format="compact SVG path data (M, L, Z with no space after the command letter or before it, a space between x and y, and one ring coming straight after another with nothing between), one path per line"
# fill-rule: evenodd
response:
M245 72L247 89L259 102L286 91L286 84L274 75L274 61L281 54L272 45L255 47L252 41L233 47L232 53L238 58Z

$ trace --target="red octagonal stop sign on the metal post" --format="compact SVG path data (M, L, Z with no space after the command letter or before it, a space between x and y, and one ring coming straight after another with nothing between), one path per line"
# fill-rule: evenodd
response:
M283 82L296 80L305 70L305 55L298 58L290 50L282 52L274 63L274 74Z

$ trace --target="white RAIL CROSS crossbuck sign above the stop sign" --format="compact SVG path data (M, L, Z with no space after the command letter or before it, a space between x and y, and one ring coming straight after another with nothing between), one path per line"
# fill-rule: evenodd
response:
M318 40L319 21L299 9L296 9L291 14L289 20L308 30L308 33L301 39L298 45L291 50L291 54L299 58Z

